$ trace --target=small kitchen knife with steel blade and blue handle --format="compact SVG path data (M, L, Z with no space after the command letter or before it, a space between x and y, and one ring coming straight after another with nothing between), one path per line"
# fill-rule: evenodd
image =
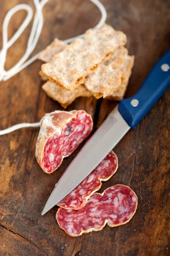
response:
M170 87L170 49L156 63L138 92L123 99L84 145L52 191L41 215L58 204L135 128Z

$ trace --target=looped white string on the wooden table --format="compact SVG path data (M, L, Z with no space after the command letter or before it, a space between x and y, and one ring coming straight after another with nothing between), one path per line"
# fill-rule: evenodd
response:
M40 2L39 2L39 0L33 0L33 1L35 4L36 13L35 13L35 17L34 17L34 21L33 21L33 25L32 25L32 30L29 35L26 52L24 53L23 57L20 58L20 61L18 61L17 64L15 64L14 67L12 67L11 69L9 69L7 71L4 68L7 50L9 49L9 47L11 47L14 44L15 41L17 41L17 39L20 37L20 35L23 33L23 31L26 29L26 27L29 25L30 21L32 20L32 16L33 16L32 8L27 4L19 4L17 6L14 6L6 14L6 17L3 21L3 47L0 51L0 81L8 80L12 76L19 73L21 70L23 70L25 67L27 67L29 64L34 62L40 56L41 52L39 52L34 57L27 60L29 58L29 56L31 55L31 53L33 52L33 50L35 49L35 47L37 45L37 41L40 37L40 33L43 28L42 9L49 0L41 0ZM92 3L94 3L101 12L101 20L95 26L97 28L100 28L104 24L104 22L107 18L106 9L104 8L104 6L102 5L102 3L99 0L90 0L90 1ZM27 12L27 16L26 16L25 20L23 21L23 23L20 25L17 32L15 32L14 35L12 36L12 38L8 41L9 21L10 21L11 17L16 12L18 12L20 10L25 10ZM76 38L83 38L83 37L84 37L84 34L78 35L74 38L66 39L65 42L67 44L69 44L70 42L74 41ZM0 135L7 134L7 133L10 133L17 129L24 128L24 127L40 127L40 122L33 123L33 124L22 123L22 124L14 125L10 128L0 131Z

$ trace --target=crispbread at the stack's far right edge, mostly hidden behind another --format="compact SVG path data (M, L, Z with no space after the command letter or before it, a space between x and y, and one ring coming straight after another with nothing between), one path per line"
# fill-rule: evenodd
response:
M118 89L113 91L110 96L107 96L107 99L111 99L111 100L123 99L124 94L127 90L127 85L128 85L131 73L132 73L134 60L135 60L135 56L126 55L124 57L123 64L121 65L121 67L119 67L119 69L123 72L123 81L121 85L118 87Z

